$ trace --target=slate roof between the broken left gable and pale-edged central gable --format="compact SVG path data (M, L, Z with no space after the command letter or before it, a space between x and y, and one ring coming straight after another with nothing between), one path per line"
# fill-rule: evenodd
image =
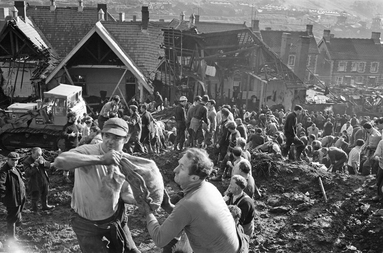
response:
M65 57L97 23L97 8L84 7L83 12L77 7L49 8L29 5L26 16L33 19L59 56Z

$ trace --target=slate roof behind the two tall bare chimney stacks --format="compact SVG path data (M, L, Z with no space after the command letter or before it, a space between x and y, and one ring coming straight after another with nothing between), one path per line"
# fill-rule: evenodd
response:
M291 34L291 49L290 53L296 54L298 49L299 36L309 36L307 31L267 31L261 30L263 41L269 46L276 54L281 52L282 33ZM311 37L309 54L319 54L319 49L316 44L314 36Z

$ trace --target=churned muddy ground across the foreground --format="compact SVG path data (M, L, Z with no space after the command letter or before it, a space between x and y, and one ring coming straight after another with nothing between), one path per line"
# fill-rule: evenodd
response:
M211 149L209 153L216 162L217 156ZM172 172L180 155L173 152L146 155L157 163L174 202L182 197L181 189L173 181ZM263 165L259 164L261 160L264 161ZM250 252L383 252L383 221L372 216L378 204L371 200L376 195L375 191L368 188L374 183L373 177L331 174L305 162L273 163L263 156L253 156L252 163L256 165L253 176L262 197L254 200L255 233L250 239ZM267 164L272 165L271 176L267 179L257 176L262 172L260 167L267 167ZM326 190L327 203L319 187L319 177ZM5 243L3 251L80 252L75 234L67 222L72 186L62 184L59 172L53 172L50 178L49 203L57 207L36 216L31 212L30 199L27 200L22 215L30 225L16 228L16 234L23 242L8 247L5 241L6 212L0 204L0 241ZM221 192L226 190L228 184L227 181L214 182ZM307 207L298 209L298 205L303 203L308 203L305 204ZM151 240L146 221L136 207L127 207L129 228L138 248L142 252L161 252ZM166 214L160 210L157 217L161 221Z

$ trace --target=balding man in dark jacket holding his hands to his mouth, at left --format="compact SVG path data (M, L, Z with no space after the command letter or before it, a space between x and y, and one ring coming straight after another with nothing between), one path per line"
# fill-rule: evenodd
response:
M41 196L41 206L43 210L54 209L54 205L48 205L49 177L47 170L51 164L41 156L41 148L33 148L32 154L23 162L25 176L29 177L29 191L32 192L32 210L39 215L37 207Z

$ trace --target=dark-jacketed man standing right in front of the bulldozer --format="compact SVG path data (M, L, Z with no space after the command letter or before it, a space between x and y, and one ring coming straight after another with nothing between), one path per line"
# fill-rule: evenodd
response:
M76 127L76 112L68 112L67 119L68 122L62 128L61 138L65 140L65 151L69 151L72 148L79 146L79 130ZM70 183L69 171L64 171L62 173L62 181L64 183Z

